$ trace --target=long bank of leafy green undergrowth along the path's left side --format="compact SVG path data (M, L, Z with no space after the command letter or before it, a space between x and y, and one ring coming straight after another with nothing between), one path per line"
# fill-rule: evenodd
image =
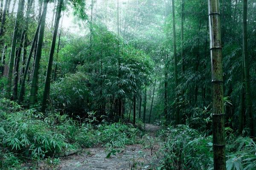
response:
M136 143L138 130L122 122L92 125L60 113L22 110L0 100L0 169L20 167L24 161L55 158L70 150L102 144L109 150ZM53 159L54 160L54 159Z

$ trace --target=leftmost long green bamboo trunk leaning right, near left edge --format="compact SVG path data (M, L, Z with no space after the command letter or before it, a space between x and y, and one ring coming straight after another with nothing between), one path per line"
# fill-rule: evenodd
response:
M11 88L12 88L12 71L14 65L14 56L15 56L15 49L16 49L16 42L17 42L17 34L20 26L20 19L22 17L23 11L22 6L24 4L24 0L19 0L19 5L17 9L17 17L15 21L15 28L12 37L12 48L11 48L11 55L10 55L10 62L9 62L9 74L7 80L7 89L6 89L6 97L11 98Z

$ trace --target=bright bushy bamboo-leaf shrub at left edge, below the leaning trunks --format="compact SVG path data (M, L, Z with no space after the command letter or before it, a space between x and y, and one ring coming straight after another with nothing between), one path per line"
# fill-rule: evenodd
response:
M40 118L40 119L38 119ZM32 159L58 154L70 147L65 136L44 122L41 113L32 110L0 113L0 137L3 147Z

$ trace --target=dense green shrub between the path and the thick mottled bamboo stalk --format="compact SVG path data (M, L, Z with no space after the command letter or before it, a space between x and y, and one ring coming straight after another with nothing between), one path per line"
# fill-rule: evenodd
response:
M166 170L206 170L212 164L211 137L201 135L186 125L169 127L163 147Z

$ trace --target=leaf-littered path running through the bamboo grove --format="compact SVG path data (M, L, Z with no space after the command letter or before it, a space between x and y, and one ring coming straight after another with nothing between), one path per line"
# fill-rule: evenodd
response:
M57 170L148 170L158 165L160 156L157 151L160 149L159 142L155 135L161 127L145 124L145 130L149 133L148 143L132 144L120 149L119 153L106 158L109 151L105 147L92 147L83 149L73 156L66 156L60 159ZM45 169L45 168L44 168Z

